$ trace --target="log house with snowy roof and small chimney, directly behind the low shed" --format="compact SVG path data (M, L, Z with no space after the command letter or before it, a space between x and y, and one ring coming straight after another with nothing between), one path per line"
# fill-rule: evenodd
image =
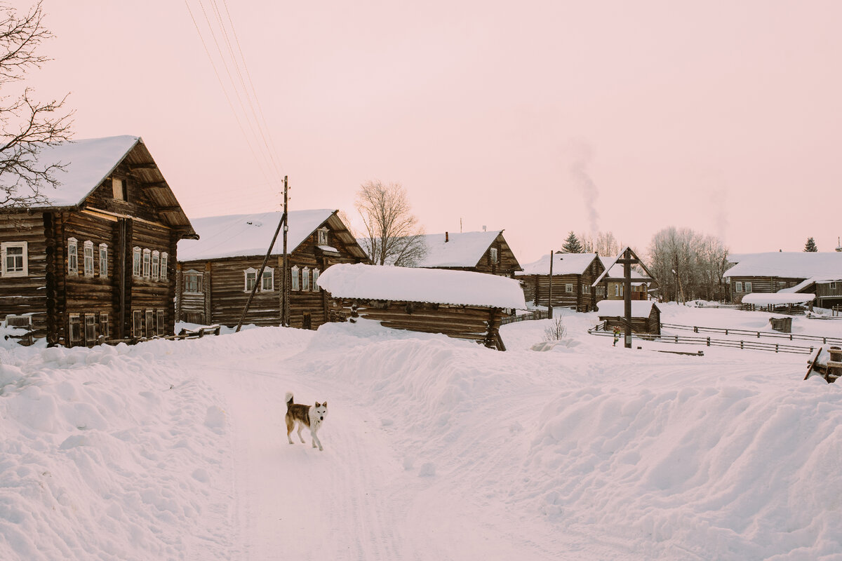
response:
M427 254L417 266L514 278L514 273L522 271L523 267L514 257L503 232L492 230L425 235Z

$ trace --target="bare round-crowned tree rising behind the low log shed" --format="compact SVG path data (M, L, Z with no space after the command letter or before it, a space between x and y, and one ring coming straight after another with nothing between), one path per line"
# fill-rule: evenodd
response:
M424 258L424 230L400 183L364 183L357 192L356 208L365 225L360 245L372 263L413 267Z

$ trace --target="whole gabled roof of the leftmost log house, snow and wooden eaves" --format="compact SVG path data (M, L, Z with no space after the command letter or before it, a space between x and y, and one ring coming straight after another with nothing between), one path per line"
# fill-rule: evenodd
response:
M184 232L195 236L190 221L157 164L147 150L140 136L121 135L85 140L69 140L56 146L43 146L38 152L40 165L61 164L56 170L56 188L45 187L43 192L48 202L34 204L30 209L80 208L88 196L114 172L120 162L142 167L138 171L143 183L154 183L147 190L152 201L161 209L163 220Z

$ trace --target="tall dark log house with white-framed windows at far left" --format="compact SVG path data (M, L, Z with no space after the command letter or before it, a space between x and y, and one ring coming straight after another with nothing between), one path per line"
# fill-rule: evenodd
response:
M138 136L45 146L49 201L3 214L0 314L48 345L173 334L179 240L195 237Z

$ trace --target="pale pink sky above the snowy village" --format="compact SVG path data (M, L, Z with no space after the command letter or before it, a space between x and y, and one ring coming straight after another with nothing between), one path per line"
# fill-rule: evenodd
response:
M842 236L842 3L227 8L290 209L354 218L360 183L402 183L427 232L505 229L521 263L569 230L643 251L669 225L733 252L800 251L808 236L829 251ZM71 93L76 138L141 135L191 217L279 208L184 2L45 11L55 60L29 85Z

